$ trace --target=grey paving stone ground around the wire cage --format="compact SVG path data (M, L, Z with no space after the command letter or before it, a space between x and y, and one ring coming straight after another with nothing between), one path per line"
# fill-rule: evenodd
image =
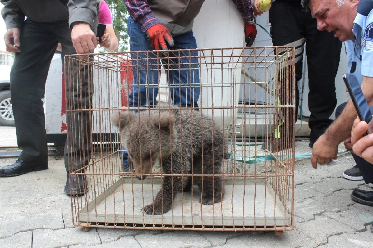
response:
M297 153L311 153L308 142ZM344 150L341 146L340 150ZM0 159L0 167L15 161ZM273 232L204 232L96 229L72 225L70 197L63 193L63 158L49 159L50 168L13 178L0 178L0 248L208 248L208 247L373 247L373 209L350 198L364 181L341 177L355 165L349 153L314 170L310 159L295 163L294 230Z

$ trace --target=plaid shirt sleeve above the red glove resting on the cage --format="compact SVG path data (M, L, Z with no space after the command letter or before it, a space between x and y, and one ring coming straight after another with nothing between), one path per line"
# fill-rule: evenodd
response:
M143 32L159 22L151 12L146 0L123 0L129 15L135 22L139 23Z

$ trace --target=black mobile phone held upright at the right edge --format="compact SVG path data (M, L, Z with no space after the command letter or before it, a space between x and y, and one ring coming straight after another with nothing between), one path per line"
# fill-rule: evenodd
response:
M342 78L345 81L348 93L350 93L351 100L354 103L360 121L369 123L372 120L372 112L370 112L369 105L356 76L352 73L346 73L343 74ZM365 134L369 135L369 131L367 130Z

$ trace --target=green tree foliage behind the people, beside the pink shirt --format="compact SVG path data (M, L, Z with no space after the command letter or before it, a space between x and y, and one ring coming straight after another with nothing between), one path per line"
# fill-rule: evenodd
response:
M113 28L115 35L119 41L118 52L128 51L128 11L123 0L105 0L109 6L110 12L112 13ZM99 49L100 52L105 52L105 48ZM115 51L115 52L116 52Z

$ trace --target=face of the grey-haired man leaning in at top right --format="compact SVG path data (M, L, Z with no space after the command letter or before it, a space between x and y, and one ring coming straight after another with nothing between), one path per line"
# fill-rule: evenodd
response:
M340 41L354 39L352 32L359 0L345 0L338 7L336 0L310 0L311 14L317 19L317 29L333 32Z

